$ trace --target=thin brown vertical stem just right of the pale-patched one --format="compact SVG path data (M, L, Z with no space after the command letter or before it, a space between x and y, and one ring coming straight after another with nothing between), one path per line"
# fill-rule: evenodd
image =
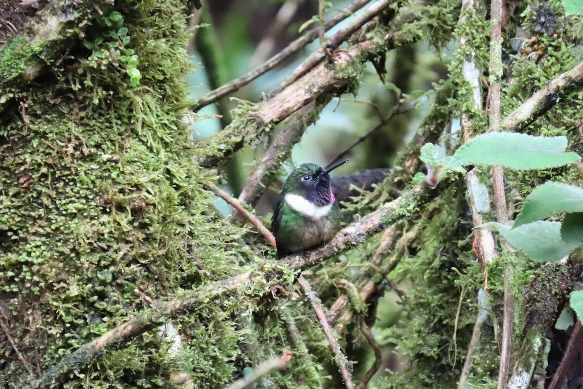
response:
M491 0L490 17L490 131L500 131L500 78L502 77L502 0ZM498 222L508 223L508 206L504 192L504 177L501 166L492 167L494 183L494 204ZM506 246L506 245L504 245ZM504 316L502 324L502 351L500 370L498 372L498 389L507 386L510 367L510 347L512 342L512 323L514 321L514 299L512 297L511 279L514 269L511 263L504 267Z

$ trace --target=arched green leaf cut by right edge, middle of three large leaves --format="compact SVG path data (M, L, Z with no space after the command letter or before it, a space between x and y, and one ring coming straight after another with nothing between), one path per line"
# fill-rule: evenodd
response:
M514 227L568 212L583 212L583 188L550 181L528 195Z

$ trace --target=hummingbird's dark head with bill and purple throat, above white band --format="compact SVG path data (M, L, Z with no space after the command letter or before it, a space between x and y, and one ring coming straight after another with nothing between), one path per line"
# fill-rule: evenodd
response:
M324 169L315 163L304 163L294 169L283 187L286 193L297 194L317 206L332 204L335 201L330 188L329 173L348 160Z

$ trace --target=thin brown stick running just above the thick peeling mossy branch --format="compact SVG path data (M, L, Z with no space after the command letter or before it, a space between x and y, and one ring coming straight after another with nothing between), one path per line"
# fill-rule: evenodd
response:
M316 65L322 62L324 58L326 58L329 50L335 50L338 48L340 44L352 36L352 34L354 34L356 31L360 30L364 24L370 22L375 16L382 13L393 2L395 2L395 0L378 0L377 2L373 3L370 8L361 12L354 18L352 23L343 29L340 29L333 36L329 37L328 44L326 44L325 47L321 47L317 51L312 52L310 57L305 59L305 61L302 62L301 65L298 66L293 72L291 72L291 74L287 76L278 87L276 87L271 93L268 94L268 98L271 98L282 92L282 90L285 89L288 85L293 84L297 79L313 69Z

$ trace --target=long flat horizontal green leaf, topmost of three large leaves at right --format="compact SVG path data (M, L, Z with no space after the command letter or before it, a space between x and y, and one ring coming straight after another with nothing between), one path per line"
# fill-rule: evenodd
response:
M581 159L565 152L565 136L532 136L516 132L489 132L457 149L448 168L469 164L501 165L514 170L548 169Z

